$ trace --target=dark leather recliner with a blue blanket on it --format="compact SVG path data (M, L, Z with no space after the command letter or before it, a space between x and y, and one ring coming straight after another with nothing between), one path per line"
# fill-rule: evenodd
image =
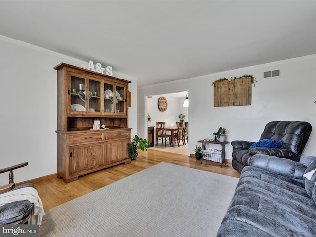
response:
M298 161L310 137L312 126L308 122L300 121L272 121L269 122L260 136L260 140L282 140L280 148L256 147L248 150L254 142L232 141L232 166L239 173L249 165L250 158L255 154L264 154Z

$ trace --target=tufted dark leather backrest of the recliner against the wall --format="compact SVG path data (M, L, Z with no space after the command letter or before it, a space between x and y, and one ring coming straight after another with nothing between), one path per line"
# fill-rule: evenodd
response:
M269 122L260 140L283 140L281 148L301 155L312 132L312 126L308 122L272 121Z

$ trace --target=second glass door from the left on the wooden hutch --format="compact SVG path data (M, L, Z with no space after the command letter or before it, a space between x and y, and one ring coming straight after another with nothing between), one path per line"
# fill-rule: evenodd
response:
M89 112L101 112L101 82L89 79L88 83Z

